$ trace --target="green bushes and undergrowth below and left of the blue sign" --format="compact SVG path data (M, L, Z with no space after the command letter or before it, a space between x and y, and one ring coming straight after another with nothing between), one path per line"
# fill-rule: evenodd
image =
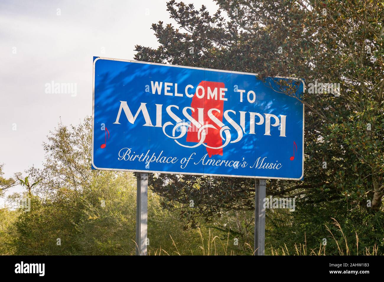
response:
M91 119L87 118L71 128L59 124L48 136L44 168L28 171L31 179L40 182L30 192L31 180L27 181L24 195L8 199L11 204L15 198L30 197L31 210L0 210L0 254L135 253L136 177L129 172L89 170L90 154L84 154L84 148L89 153L90 133ZM153 190L151 183L149 187ZM166 198L151 191L148 196L149 254L252 254L252 211L223 211L208 219L200 216L191 227L181 204L168 209ZM294 212L267 209L266 254L305 254L304 248L307 254L310 249L339 254L326 225L346 252L343 235L331 218L342 226L351 254L357 254L356 233L360 254L382 254L382 212L351 210L344 201L296 203ZM61 245L56 244L57 238ZM325 250L323 238L327 238ZM302 251L296 251L295 244Z

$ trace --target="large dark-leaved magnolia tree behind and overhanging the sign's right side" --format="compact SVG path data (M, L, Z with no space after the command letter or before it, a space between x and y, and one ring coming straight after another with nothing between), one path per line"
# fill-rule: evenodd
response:
M204 5L168 2L178 27L153 24L160 46L136 46L135 59L253 72L262 81L279 75L307 85L339 83L339 96L329 88L305 90L304 181L268 180L267 195L297 196L298 206L344 200L347 208L382 209L384 3L216 2L213 15ZM290 95L285 86L280 91ZM161 174L150 183L167 198L164 207L184 205L181 215L191 226L200 215L211 220L229 210L253 210L254 180ZM197 208L189 209L190 199Z

